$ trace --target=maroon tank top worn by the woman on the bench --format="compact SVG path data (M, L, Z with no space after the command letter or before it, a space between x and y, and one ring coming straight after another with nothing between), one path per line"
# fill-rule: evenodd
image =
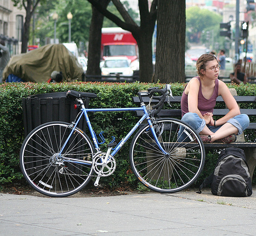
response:
M215 80L214 93L209 99L206 99L202 94L202 83L199 76L195 77L200 82L199 92L198 92L198 109L201 114L205 114L207 112L213 112L214 107L216 105L216 99L219 96L219 79ZM186 87L185 87L186 88ZM183 91L181 97L181 112L182 116L188 112L188 103L187 103L187 95L185 94L185 89Z

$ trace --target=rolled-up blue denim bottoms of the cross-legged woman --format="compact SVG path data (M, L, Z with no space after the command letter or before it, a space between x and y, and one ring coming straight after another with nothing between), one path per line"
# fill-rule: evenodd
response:
M198 134L203 130L204 126L206 125L205 120L201 119L197 113L188 112L181 118L181 120L186 122L190 126L192 126ZM240 115L237 115L237 116L229 119L227 121L227 123L230 123L234 127L236 127L238 129L238 135L241 135L243 133L243 131L246 130L246 128L249 126L250 120L246 114L240 114ZM219 125L216 127L210 126L210 125L207 125L207 126L210 131L215 133L217 130L219 130L219 128L222 125ZM183 129L181 128L179 131L179 134L178 134L179 137L180 137L180 134L181 134L181 136L183 136L182 131L183 131ZM182 138L182 137L180 137L180 138ZM185 138L185 137L183 137L183 138Z

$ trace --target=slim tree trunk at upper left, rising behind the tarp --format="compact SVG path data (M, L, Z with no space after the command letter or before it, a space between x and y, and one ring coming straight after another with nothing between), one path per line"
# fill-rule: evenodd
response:
M12 0L12 2L14 3L14 6L19 8L24 7L26 10L26 17L22 34L22 53L26 53L28 49L31 18L40 0ZM41 0L41 2L45 2L45 0Z

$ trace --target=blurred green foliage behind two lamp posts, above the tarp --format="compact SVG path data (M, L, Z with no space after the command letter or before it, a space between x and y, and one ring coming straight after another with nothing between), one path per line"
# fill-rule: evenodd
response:
M41 0L42 1L42 0ZM46 44L46 37L54 38L53 13L58 14L56 22L56 36L59 42L68 42L69 22L67 14L72 13L71 39L78 47L85 47L89 40L89 31L92 17L92 7L88 1L58 0L47 1L47 5L37 7L35 37L40 39L40 45Z

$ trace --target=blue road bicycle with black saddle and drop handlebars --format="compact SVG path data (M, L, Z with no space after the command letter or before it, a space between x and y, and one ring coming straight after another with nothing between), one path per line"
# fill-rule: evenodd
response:
M155 96L156 94L160 96ZM147 188L161 193L173 193L186 189L200 175L205 161L204 145L196 131L181 120L157 118L164 100L172 97L170 85L164 89L151 88L138 93L141 105L138 108L87 109L86 97L96 98L94 93L70 90L67 98L74 99L80 109L71 123L52 121L34 128L25 138L20 150L20 168L26 181L38 192L50 197L67 197L85 187L92 177L98 186L101 177L107 177L116 169L115 155L134 134L130 145L130 165L134 175ZM143 96L150 97L146 106ZM157 104L152 105L152 101ZM142 111L143 116L131 131L117 144L115 138L99 147L89 112ZM78 128L84 117L92 139ZM142 123L146 121L145 123ZM182 130L186 140L178 137Z

